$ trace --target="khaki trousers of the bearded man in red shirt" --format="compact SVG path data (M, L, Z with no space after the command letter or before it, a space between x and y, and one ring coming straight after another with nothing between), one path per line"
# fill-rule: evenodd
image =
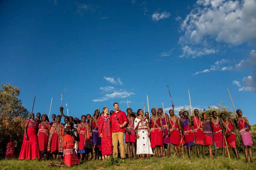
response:
M120 145L120 155L121 158L125 158L125 150L124 150L124 133L123 132L114 132L112 133L112 144L113 144L113 155L117 157L118 154L118 141Z

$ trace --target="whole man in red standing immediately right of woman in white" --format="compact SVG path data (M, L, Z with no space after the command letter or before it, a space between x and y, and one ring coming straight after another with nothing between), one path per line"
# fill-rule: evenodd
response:
M159 157L158 150L160 149L160 157L163 158L163 138L165 134L163 133L163 121L160 116L156 114L156 109L151 109L152 116L149 119L149 128L151 133L150 143L151 147L155 149L156 157Z

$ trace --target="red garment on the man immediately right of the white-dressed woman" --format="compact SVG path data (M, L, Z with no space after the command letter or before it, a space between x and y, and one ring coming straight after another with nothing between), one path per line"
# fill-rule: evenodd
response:
M163 146L163 131L161 129L160 119L156 116L151 117L150 120L150 146L153 148Z

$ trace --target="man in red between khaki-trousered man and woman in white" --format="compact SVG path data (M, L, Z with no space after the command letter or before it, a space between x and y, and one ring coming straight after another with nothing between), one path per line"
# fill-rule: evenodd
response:
M129 158L137 158L135 153L135 130L134 130L134 117L132 117L132 109L128 108L127 112L127 119L128 124L126 125L126 132L125 132L125 143L127 144L127 152ZM131 145L132 145L132 153L131 153ZM133 155L132 155L133 154Z

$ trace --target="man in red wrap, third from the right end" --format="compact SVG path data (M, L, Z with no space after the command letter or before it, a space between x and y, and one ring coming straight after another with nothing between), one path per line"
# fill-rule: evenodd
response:
M215 111L212 112L212 117L213 118L210 120L210 123L212 125L212 132L214 138L215 157L217 157L219 147L222 147L222 154L224 154L224 147L226 146L226 143L223 140L222 124L220 123L219 118L217 117L217 113Z

